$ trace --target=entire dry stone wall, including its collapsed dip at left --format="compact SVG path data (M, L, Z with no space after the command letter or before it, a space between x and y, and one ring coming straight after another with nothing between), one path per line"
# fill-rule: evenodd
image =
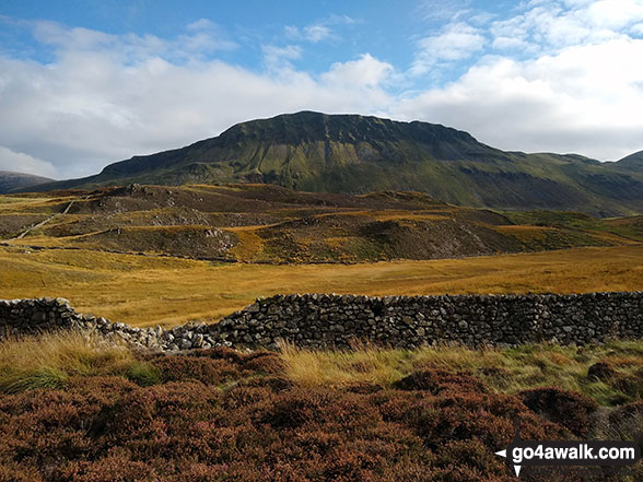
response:
M90 330L132 344L178 351L219 345L347 348L353 340L395 346L528 342L600 343L643 339L643 292L457 296L278 295L220 322L139 329L80 315L63 298L0 301L0 336Z

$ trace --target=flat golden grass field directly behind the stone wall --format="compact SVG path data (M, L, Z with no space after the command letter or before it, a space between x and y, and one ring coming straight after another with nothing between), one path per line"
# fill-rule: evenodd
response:
M136 326L215 320L279 293L420 295L643 290L643 246L363 264L214 264L0 247L0 298L62 296Z

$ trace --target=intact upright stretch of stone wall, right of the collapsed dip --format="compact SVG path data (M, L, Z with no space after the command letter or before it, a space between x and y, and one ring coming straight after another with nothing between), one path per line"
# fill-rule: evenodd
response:
M347 348L363 339L395 348L529 342L587 344L643 338L643 296L583 295L385 296L279 295L257 301L210 333L230 345Z

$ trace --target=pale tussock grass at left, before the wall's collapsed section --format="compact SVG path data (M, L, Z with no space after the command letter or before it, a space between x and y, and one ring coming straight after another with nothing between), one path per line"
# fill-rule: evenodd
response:
M157 383L153 368L125 345L75 331L0 341L0 391L61 388L68 377L121 375L140 385Z

